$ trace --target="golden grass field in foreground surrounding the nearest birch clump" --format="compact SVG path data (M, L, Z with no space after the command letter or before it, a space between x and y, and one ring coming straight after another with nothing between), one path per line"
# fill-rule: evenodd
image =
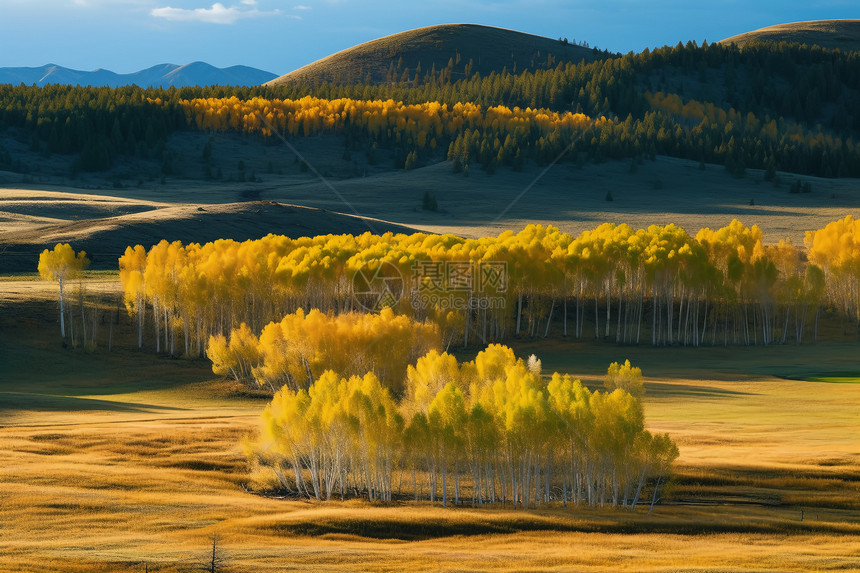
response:
M4 282L0 297L0 570L188 571L213 535L233 571L844 571L860 563L856 341L689 351L518 344L545 369L587 382L613 360L642 366L648 426L681 450L650 515L647 507L311 503L245 489L240 441L264 399L214 379L204 361L138 353L130 334L110 354L64 350L50 287L8 294L26 284Z

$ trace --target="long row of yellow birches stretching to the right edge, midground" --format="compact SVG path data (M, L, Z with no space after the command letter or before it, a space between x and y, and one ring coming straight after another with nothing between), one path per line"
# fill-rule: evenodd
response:
M242 324L259 337L300 308L340 315L372 302L435 323L444 348L559 334L656 346L800 344L817 338L824 308L858 318L857 225L848 216L809 232L808 256L788 241L766 245L757 226L735 220L695 237L672 224L604 223L576 236L529 225L480 239L162 241L127 248L119 266L138 345L146 339L171 355L201 355L219 335L229 347ZM373 280L382 270L391 276Z

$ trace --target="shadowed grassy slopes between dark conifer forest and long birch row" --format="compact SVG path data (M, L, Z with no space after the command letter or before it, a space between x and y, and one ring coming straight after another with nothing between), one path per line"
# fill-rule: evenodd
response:
M857 179L776 172L773 181L765 181L765 173L753 169L738 178L722 166L665 156L641 162L562 162L545 173L529 163L521 171L488 175L476 169L466 177L439 156L410 171L392 169L389 150L379 150L377 165L369 164L363 153L345 159L336 136L295 140L322 180L302 171L283 147L217 134L212 169L221 169L224 177L206 180L195 146L208 138L198 136L195 142L191 135L170 138L171 148L184 151L181 171L164 184L128 178L147 166L143 161L74 181L45 175L23 183L20 175L0 172L0 273L34 271L38 252L58 241L86 250L94 268L115 269L127 245L148 247L162 238L205 242L270 232L300 236L369 230L356 214L369 218L374 232L418 229L466 237L519 231L529 223L578 234L603 221L635 228L675 223L695 234L737 218L758 225L768 243L790 238L795 245L803 244L807 230L846 214L860 217ZM240 160L263 181L236 181ZM228 180L231 173L233 180ZM811 192L792 193L797 181L808 183ZM422 208L425 194L437 201L436 211Z

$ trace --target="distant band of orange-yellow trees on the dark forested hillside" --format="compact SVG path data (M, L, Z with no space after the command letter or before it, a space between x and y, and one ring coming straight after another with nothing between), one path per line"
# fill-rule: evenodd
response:
M269 137L345 134L350 139L394 146L413 154L441 147L449 159L466 165L480 162L513 164L521 150L532 147L555 154L576 136L611 123L582 113L509 108L476 103L404 104L394 100L297 100L252 97L180 100L188 123L197 129L259 133ZM589 139L591 139L589 137ZM599 137L598 137L599 139ZM552 143L551 150L547 145ZM519 157L519 159L517 159ZM407 168L413 163L409 162Z

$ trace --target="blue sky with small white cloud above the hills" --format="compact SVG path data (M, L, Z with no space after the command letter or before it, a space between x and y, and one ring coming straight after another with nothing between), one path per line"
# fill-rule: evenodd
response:
M616 52L772 24L860 18L857 0L0 0L0 67L137 71L203 60L286 73L411 28L466 22ZM433 8L429 8L429 6Z

